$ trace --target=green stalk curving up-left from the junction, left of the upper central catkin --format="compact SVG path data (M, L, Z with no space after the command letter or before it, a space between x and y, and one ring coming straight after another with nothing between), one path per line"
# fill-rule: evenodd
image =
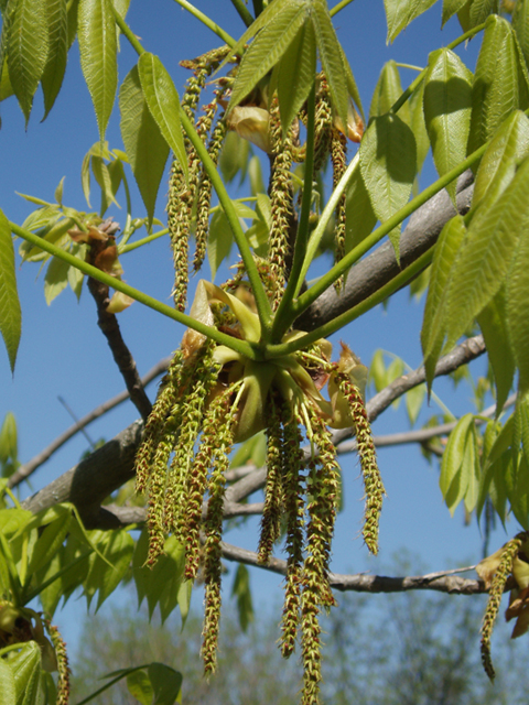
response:
M263 343L268 343L270 338L270 329L271 329L270 302L268 301L264 286L262 285L262 282L259 276L259 272L257 271L256 261L253 260L253 254L251 253L250 246L248 245L248 240L246 239L245 231L240 227L239 217L237 215L237 212L235 210L231 198L228 196L226 186L224 185L224 182L220 178L220 174L218 173L217 167L215 166L212 158L209 156L206 145L196 133L193 122L190 120L190 118L185 115L183 110L180 113L180 120L182 122L182 127L184 128L187 137L190 138L190 141L195 148L195 151L198 154L198 158L203 163L207 175L212 180L213 187L217 193L218 200L220 202L220 205L224 209L226 218L234 234L237 248L240 252L240 257L242 258L242 262L245 264L248 279L250 280L251 290L256 299L257 313L259 315L259 321L260 321L261 330L262 330L262 339L263 339Z

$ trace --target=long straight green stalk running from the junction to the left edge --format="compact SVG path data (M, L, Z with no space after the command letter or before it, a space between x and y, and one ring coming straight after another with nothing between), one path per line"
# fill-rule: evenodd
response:
M62 250L56 245L46 242L46 240L44 240L43 238L40 238L37 235L34 235L29 230L24 230L23 228L19 227L14 223L10 223L9 225L12 232L18 235L22 239L26 240L28 242L31 242L32 245L35 245L36 247L41 248L41 250L44 250L45 252L53 254L60 260L63 260L63 262L67 262L72 267L75 267L87 276L91 276L97 281L102 282L108 286L111 286L116 291L120 291L127 296L130 296L131 299L139 301L140 304L143 304L144 306L149 306L149 308L152 308L153 311L156 311L158 313L161 313L164 316L168 316L168 318L172 318L173 321L176 321L177 323L181 323L182 325L187 326L188 328L193 328L193 330L197 330L198 333L202 333L203 335L207 336L208 338L212 338L219 345L225 345L226 347L231 348L231 350L235 350L236 352L239 352L240 355L244 355L250 358L251 360L259 359L260 356L253 349L253 346L250 346L250 344L246 343L246 340L239 340L238 338L234 338L230 335L220 333L220 330L217 330L212 326L207 326L206 324L201 323L199 321L195 321L195 318L192 318L191 316L187 316L184 313L180 313L179 311L171 308L171 306L168 306L161 301L158 301L158 299L153 299L152 296L149 296L142 291L139 291L138 289L134 289L133 286L126 284L119 279L116 279L116 276L110 276L110 274L102 272L100 269L97 269L97 267L94 267L93 264L88 264L88 262L85 262L84 260L80 260L79 258L74 257L74 254L66 252L65 250Z

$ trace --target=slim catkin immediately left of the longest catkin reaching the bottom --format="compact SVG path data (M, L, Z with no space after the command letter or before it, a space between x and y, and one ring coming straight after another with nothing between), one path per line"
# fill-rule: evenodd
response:
M288 567L281 620L281 653L289 658L295 649L300 623L303 581L304 477L300 419L283 411L283 501L287 518Z

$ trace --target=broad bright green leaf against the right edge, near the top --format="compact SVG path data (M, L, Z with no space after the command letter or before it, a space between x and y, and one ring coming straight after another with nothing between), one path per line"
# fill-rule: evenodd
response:
M472 91L468 152L487 142L516 109L529 106L529 91L510 24L487 20Z

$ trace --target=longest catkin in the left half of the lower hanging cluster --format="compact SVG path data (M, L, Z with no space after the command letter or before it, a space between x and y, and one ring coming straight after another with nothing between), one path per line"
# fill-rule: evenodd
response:
M226 487L225 473L228 469L228 455L235 436L237 400L231 402L233 393L239 386L231 386L223 392L218 403L217 437L214 452L214 466L208 482L209 500L204 521L206 534L204 544L204 587L205 609L202 642L204 673L215 672L217 664L218 628L220 621L220 576L222 576L222 531L223 506Z

